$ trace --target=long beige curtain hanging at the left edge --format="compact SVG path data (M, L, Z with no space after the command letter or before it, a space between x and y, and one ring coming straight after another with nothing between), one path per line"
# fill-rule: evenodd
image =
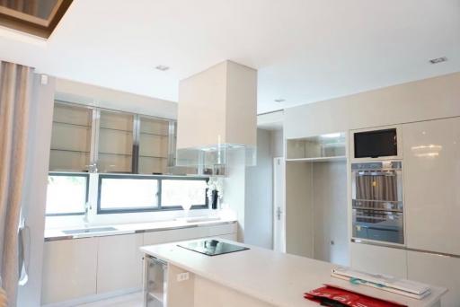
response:
M18 226L27 153L33 69L0 62L0 276L16 305Z

